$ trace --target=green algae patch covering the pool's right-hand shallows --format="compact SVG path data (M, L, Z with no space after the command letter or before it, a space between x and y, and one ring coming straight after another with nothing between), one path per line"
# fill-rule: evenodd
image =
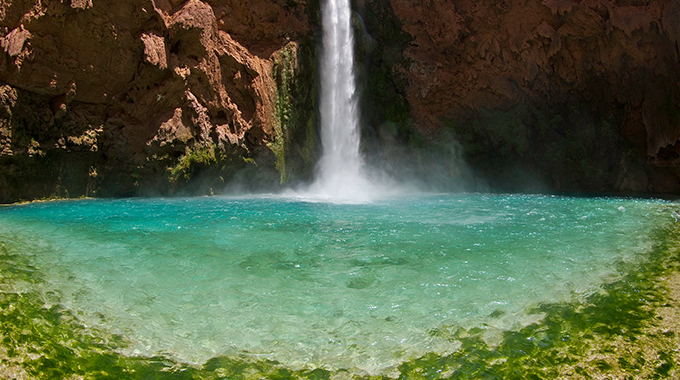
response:
M544 314L541 322L505 332L495 347L482 331L457 331L451 339L462 343L461 350L404 363L401 378L673 378L678 338L660 328L657 311L670 305L669 289L658 279L677 275L680 240L676 230L658 235L663 243L641 270L620 264L627 274L601 291L538 305L530 312Z

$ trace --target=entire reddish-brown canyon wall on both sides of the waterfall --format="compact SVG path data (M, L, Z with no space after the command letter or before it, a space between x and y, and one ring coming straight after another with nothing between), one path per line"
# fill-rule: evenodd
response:
M309 180L319 6L0 0L0 202ZM680 192L679 0L353 6L363 151L392 175Z

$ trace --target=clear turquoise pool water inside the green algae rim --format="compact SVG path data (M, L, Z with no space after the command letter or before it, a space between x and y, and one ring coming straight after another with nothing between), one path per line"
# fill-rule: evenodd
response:
M456 351L440 327L493 345L540 320L528 308L597 292L672 218L663 201L530 195L79 200L0 209L0 241L44 278L13 291L125 335L125 354L389 374Z

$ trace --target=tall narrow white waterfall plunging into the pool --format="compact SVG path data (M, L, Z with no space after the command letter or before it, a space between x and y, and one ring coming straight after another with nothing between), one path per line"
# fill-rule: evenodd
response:
M322 5L322 157L312 190L334 199L365 199L370 182L359 153L359 110L354 78L354 36L349 0Z

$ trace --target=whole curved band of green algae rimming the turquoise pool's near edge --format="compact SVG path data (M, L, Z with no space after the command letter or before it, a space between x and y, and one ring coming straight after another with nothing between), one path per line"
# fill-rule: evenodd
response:
M529 313L543 316L540 322L504 332L500 341L490 342L486 326L431 330L460 348L406 361L391 374L400 379L677 377L678 323L667 319L680 308L668 280L680 273L678 230L676 223L655 232L658 243L644 266L620 263L620 279L599 291L574 295L568 303L536 305ZM388 378L350 369L288 368L247 353L215 357L203 365L123 355L130 344L125 338L87 326L76 311L60 305L59 294L41 288L40 268L27 250L9 239L0 242L0 376L5 378Z

